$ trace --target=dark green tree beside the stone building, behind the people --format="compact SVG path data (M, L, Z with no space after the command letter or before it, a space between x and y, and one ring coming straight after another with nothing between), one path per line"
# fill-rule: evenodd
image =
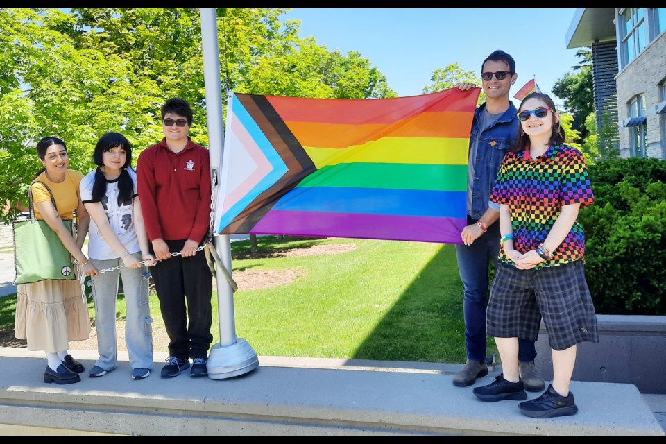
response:
M582 143L588 136L585 126L588 116L595 111L595 96L592 83L592 51L581 49L576 53L581 59L574 65L574 73L568 72L558 79L552 89L553 94L564 101L564 106L574 116L573 128L580 132L577 142Z

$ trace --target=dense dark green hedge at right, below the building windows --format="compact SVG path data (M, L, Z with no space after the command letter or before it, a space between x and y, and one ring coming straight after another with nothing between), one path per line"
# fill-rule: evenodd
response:
M666 314L666 162L615 159L588 167L586 275L599 314Z

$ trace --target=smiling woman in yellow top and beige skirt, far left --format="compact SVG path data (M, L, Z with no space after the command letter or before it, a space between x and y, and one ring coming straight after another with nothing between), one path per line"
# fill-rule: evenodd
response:
M82 273L94 276L99 272L81 250L90 223L78 192L83 174L69 169L67 146L58 137L40 139L37 156L43 168L31 184L35 217L45 221L58 234L58 239L76 259ZM75 211L78 230L73 234L61 219L74 219ZM90 334L88 307L81 293L78 280L42 280L17 287L14 335L27 341L28 350L46 352L46 383L79 382L78 373L85 371L83 364L67 351L69 341L85 341Z

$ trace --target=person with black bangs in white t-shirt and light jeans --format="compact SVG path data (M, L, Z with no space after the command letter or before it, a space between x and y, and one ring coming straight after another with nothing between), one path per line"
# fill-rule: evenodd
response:
M146 267L153 265L155 257L149 251L137 194L132 146L120 133L106 133L95 146L93 160L97 168L81 180L80 194L92 217L88 233L90 261L105 272L92 278L99 359L89 375L101 377L117 367L116 300L122 278L125 344L132 379L144 379L153 368L150 275Z

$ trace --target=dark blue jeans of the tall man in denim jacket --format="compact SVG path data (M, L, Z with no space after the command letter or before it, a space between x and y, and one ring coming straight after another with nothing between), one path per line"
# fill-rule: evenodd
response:
M467 225L477 223L470 216ZM499 221L493 223L472 245L456 245L458 271L463 281L463 311L465 314L465 341L467 359L486 360L486 307L488 307L488 275L490 261L497 261L499 253ZM534 341L519 339L518 360L536 358Z

